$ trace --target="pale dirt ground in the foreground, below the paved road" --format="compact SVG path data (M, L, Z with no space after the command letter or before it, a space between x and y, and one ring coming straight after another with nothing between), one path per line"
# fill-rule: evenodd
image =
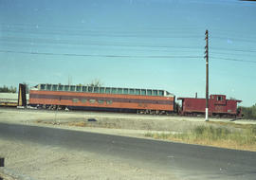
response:
M99 154L0 138L3 171L20 180L175 179L164 172L145 170Z

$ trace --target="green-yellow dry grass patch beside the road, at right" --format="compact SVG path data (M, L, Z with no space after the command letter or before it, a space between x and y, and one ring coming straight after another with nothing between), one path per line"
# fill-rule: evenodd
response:
M190 144L207 145L256 152L256 125L238 125L241 130L226 127L197 126L188 133L152 134L145 136Z

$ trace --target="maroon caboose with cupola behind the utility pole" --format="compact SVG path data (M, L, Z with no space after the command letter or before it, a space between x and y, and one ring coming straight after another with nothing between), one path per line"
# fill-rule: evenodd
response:
M206 111L206 99L178 98L182 100L181 115L204 115ZM238 117L241 111L237 110L237 103L242 100L226 99L225 95L210 95L209 116Z

